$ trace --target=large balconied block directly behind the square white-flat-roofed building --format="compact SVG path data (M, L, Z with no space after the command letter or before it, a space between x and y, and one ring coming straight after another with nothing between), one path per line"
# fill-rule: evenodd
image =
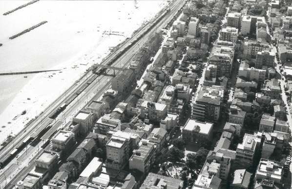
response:
M191 117L210 122L219 120L224 89L223 86L217 85L202 86L197 97L192 99Z

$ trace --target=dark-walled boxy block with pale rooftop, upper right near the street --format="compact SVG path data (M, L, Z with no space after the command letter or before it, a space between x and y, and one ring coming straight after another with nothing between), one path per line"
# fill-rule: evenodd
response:
M263 66L274 68L275 53L268 50L258 51L256 54L255 68L262 69Z

